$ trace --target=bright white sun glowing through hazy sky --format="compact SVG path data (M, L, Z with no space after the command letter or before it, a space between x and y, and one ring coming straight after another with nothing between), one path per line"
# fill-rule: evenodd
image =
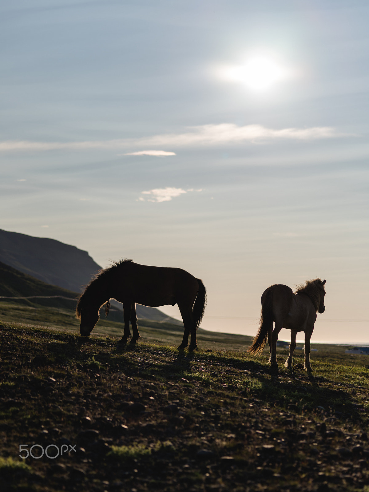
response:
M228 80L241 82L249 89L264 91L288 77L288 71L265 56L249 58L243 65L231 66L223 70Z

